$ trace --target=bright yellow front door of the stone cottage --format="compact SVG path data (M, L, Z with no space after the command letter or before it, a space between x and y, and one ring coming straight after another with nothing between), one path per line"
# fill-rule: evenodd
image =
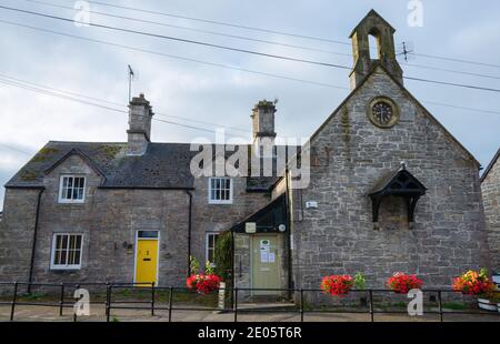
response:
M136 283L157 283L158 239L137 241Z

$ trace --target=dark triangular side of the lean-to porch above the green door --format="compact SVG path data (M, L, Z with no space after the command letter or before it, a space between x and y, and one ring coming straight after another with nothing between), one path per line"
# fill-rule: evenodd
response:
M279 233L280 225L287 225L287 202L286 194L278 196L264 208L247 216L241 222L234 224L230 231L233 233L246 233L246 224L256 223L256 233ZM284 227L288 231L287 227Z

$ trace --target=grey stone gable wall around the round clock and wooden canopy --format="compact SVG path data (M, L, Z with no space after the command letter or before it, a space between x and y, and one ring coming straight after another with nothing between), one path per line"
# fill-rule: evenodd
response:
M367 104L378 95L400 108L391 129L367 117ZM319 129L311 152L311 183L299 199L293 194L298 287L319 287L327 274L361 272L369 287L380 289L398 271L417 273L428 287L450 287L452 276L488 265L478 164L383 70ZM414 226L406 223L402 200L384 200L376 231L369 192L402 161L428 189ZM307 201L317 201L318 209L306 210Z

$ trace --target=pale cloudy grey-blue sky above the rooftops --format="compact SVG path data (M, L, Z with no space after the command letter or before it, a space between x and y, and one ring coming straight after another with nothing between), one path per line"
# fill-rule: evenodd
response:
M73 7L69 0L40 0ZM443 55L487 63L500 61L500 2L440 0L423 2L423 27L409 27L407 0L349 1L110 1L134 8L226 21L249 27L294 32L349 43L351 29L371 9L376 9L396 29L397 43L410 41L418 53ZM74 11L37 4L24 0L0 0L1 6L29 9L72 18ZM153 16L90 4L91 10L160 21L288 44L350 53L347 44L336 44L274 33L256 32L189 20ZM0 9L0 20L106 40L162 53L207 62L307 79L348 88L348 71L328 67L256 57L213 48L172 42L99 28L77 28L72 23L37 18ZM298 50L217 37L181 29L110 19L93 14L93 22L128 29L208 41L273 54L351 65L350 57ZM0 22L0 78L3 75L127 104L127 64L138 72L133 92L144 92L157 113L212 122L213 125L184 124L214 129L217 124L250 130L252 105L261 99L279 99L277 131L284 136L308 136L346 98L348 90L312 85L296 81L221 69L68 37L33 31ZM409 63L444 68L500 78L500 69L418 57ZM500 88L499 79L402 65L406 75ZM406 81L406 87L444 124L486 166L500 146L500 114L472 112L436 105L441 102L500 112L500 94L444 85ZM127 117L118 112L8 85L0 80L0 184L4 184L49 140L124 141ZM109 105L109 104L108 104ZM114 105L117 108L117 105ZM248 133L232 131L232 134ZM179 142L207 132L153 122L154 141ZM7 144L7 145L6 145ZM29 154L21 153L20 151ZM0 191L0 209L3 188Z

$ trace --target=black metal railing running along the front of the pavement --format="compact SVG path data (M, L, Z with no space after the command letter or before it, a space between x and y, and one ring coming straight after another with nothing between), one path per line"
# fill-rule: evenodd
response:
M351 290L349 294L358 293L366 296L364 305L358 306L357 308L346 310L346 308L328 308L324 307L312 307L312 305L306 306L306 294L308 293L317 293L321 295L321 297L326 297L328 295L322 294L322 290L319 289L243 289L243 287L234 287L228 289L227 292L232 296L232 302L229 307L209 307L209 306L186 306L186 305L176 305L174 296L176 292L184 292L189 291L187 287L176 287L176 286L156 286L154 283L121 283L121 282L106 282L106 283L27 283L27 282L0 282L0 287L12 286L12 294L10 296L11 301L1 301L0 305L10 305L10 321L14 321L16 318L16 308L17 306L46 306L46 307L57 307L59 308L59 316L63 316L63 310L66 307L74 307L78 300L69 300L66 293L70 290L78 290L81 287L90 287L90 286L100 286L104 289L104 300L103 301L93 301L90 304L102 304L104 305L104 314L106 321L110 322L113 310L147 310L150 311L150 315L154 316L157 311L167 311L168 312L168 322L172 322L172 314L176 311L186 311L186 312L223 312L223 313L232 313L233 322L238 322L238 317L243 313L291 313L297 314L299 316L300 322L304 322L306 314L368 314L370 317L370 322L376 321L376 314L408 314L407 311L393 311L393 310L380 310L380 307L376 307L374 295L383 295L382 297L390 299L396 294L390 290L377 290L377 289L367 289L367 290ZM24 296L20 294L21 286L39 286L39 287L52 287L58 289L59 292L52 293L52 296L57 296L57 302L31 302L31 301L20 301L20 296ZM137 291L142 291L149 293L148 300L113 300L113 295L117 294L119 290L130 289ZM114 294L113 294L114 292ZM157 295L159 293L166 292L167 297L167 306L159 304L157 302ZM246 294L246 299L249 295L252 295L256 292L269 292L269 293L282 293L282 294L292 294L296 300L294 308L292 310L277 310L277 308L253 308L253 307L242 307L241 306L241 294ZM197 294L196 292L192 292ZM448 314L462 314L462 315L493 315L491 312L486 312L481 310L469 310L469 311L453 311L446 310L443 305L443 294L459 294L460 292L452 290L443 290L443 289L428 289L422 290L422 293L431 293L436 296L436 300L432 303L437 304L437 307L431 310L426 310L426 314L434 314L439 316L439 321L444 321L444 315ZM500 291L498 292L500 293ZM9 297L9 296L7 296ZM330 299L331 300L331 299ZM340 300L340 299L336 299ZM317 304L314 304L317 305ZM320 305L321 306L321 305ZM360 308L359 308L360 307ZM497 315L500 316L500 313L497 312ZM72 313L72 321L76 322L78 320L77 313ZM500 321L500 317L499 317Z

